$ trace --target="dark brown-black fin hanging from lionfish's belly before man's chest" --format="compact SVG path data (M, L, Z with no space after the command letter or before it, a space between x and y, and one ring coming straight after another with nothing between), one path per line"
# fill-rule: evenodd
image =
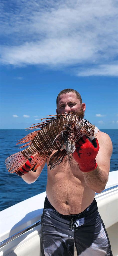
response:
M62 151L60 150L56 151L54 155L52 155L50 158L50 162L49 162L49 165L51 165L50 170L54 169L57 165L61 164L61 162L64 160L66 156L67 156L67 152L65 149Z

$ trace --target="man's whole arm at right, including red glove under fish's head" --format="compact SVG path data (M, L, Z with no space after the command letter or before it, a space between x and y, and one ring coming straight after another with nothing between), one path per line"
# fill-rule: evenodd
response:
M73 157L80 166L87 186L100 193L108 181L112 142L109 135L103 132L98 133L94 145L87 137L83 138L78 142Z

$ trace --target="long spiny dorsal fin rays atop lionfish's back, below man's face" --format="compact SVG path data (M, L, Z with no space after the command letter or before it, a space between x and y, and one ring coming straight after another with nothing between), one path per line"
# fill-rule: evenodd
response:
M46 120L44 120L44 121L41 122L41 123L32 124L31 127L26 128L27 131L28 131L28 130L37 129L37 128L40 128L40 129L42 130L42 129L43 129L45 126L47 126L49 123L51 123L51 122L53 122L53 121L55 121L55 120L57 120L57 119L59 119L59 118L65 116L65 114L62 114L62 115L51 115L51 116L55 116L55 117L41 118L41 119L39 119L39 120L41 120L41 121L42 121L43 119L46 119ZM47 120L47 119L48 119L48 120ZM34 125L34 126L33 126L33 125Z

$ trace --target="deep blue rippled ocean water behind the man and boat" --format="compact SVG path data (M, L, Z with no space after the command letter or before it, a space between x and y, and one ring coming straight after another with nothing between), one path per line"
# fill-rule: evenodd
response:
M105 129L101 130L107 133L113 143L113 154L111 157L110 172L118 170L117 154L118 154L118 130ZM29 131L25 130L0 130L0 156L1 156L1 199L0 199L0 210L4 210L18 202L21 202L27 198L35 196L46 190L47 183L47 166L45 165L42 173L36 182L27 184L24 180L16 174L9 174L4 164L5 159L20 150L16 144L17 140L26 136Z

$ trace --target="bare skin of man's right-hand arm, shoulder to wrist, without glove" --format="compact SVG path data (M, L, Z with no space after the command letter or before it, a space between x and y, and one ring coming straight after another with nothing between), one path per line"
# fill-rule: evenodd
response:
M82 172L89 188L96 193L104 190L110 171L110 159L112 155L112 142L108 134L99 132L97 135L100 149L96 156L97 168L91 172Z

